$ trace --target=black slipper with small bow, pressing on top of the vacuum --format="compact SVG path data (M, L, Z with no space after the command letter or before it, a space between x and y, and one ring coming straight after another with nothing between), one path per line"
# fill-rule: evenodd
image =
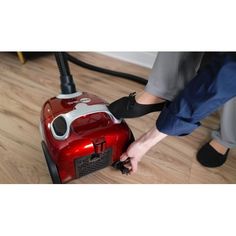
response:
M122 97L112 102L108 109L117 118L136 118L151 112L161 111L166 102L156 104L139 104L135 101L136 93L131 93L128 97Z

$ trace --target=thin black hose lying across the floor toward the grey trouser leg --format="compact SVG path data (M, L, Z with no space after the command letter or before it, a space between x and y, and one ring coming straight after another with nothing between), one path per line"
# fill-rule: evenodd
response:
M100 72L100 73L104 73L104 74L108 74L108 75L112 75L112 76L121 77L121 78L124 78L124 79L128 79L128 80L137 82L139 84L143 84L143 85L147 84L147 80L142 78L142 77L132 75L132 74L128 74L128 73L124 73L124 72L113 71L113 70L101 68L101 67L98 67L98 66L94 66L94 65L91 65L89 63L83 62L83 61L79 60L76 57L71 56L69 53L65 53L65 54L67 56L67 59L70 62L72 62L72 63L74 63L78 66L81 66L83 68L93 70L93 71L96 71L96 72Z

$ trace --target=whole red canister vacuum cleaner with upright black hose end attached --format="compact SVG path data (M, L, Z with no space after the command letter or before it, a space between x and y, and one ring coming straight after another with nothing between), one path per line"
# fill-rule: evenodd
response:
M61 94L41 111L42 149L52 182L67 183L108 166L128 174L120 156L134 141L130 128L111 114L106 101L76 91L68 55L55 53Z

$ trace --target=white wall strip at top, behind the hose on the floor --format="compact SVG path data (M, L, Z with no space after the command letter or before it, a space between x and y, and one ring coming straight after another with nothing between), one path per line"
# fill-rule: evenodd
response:
M152 68L157 52L100 52L120 60Z

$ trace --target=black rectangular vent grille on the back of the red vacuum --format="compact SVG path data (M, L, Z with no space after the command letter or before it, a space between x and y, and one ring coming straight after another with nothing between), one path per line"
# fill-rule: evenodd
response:
M112 163L112 149L107 149L102 154L92 154L75 160L76 176L80 178L94 171L103 169Z

